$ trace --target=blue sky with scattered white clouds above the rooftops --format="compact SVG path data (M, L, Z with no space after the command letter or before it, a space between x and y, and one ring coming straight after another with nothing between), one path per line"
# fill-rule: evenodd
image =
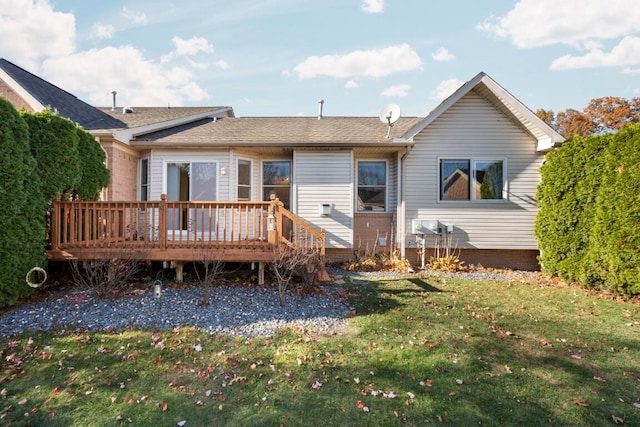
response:
M532 110L640 96L637 0L0 0L0 57L96 106L425 116L484 71Z

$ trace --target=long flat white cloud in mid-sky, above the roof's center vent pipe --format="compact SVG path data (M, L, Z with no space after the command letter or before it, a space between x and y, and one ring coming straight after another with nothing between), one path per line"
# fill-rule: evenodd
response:
M300 79L384 77L399 71L419 69L422 60L408 44L378 50L358 50L346 55L310 56L294 68Z

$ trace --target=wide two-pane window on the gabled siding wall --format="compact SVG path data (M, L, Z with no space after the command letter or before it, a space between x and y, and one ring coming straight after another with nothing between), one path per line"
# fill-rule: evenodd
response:
M502 160L440 160L440 200L504 199Z

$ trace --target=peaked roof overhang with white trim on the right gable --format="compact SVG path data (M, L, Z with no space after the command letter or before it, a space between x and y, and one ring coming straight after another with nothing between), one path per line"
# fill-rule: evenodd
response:
M522 129L538 141L538 151L549 151L565 141L564 137L553 130L542 119L535 115L527 106L511 95L485 73L479 73L473 79L462 85L451 96L442 101L427 117L403 135L401 140L410 140L440 117L451 106L467 93L474 91L502 111Z

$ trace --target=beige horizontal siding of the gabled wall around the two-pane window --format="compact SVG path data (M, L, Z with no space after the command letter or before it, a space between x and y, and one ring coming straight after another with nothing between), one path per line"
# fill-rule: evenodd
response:
M454 224L454 245L476 249L536 249L533 195L544 155L520 126L469 92L414 138L405 170L406 242L415 247L414 218ZM441 202L439 159L506 161L507 200Z

